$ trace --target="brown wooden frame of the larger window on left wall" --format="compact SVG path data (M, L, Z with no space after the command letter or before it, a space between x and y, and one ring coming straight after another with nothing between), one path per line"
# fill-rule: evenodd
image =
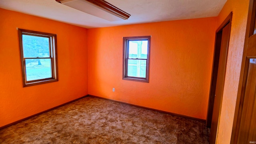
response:
M50 56L47 58L44 57L36 57L36 58L24 58L23 55L23 35L30 35L30 36L40 36L44 38L49 38L49 52ZM21 58L21 67L22 67L22 81L23 87L27 86L34 86L38 84L45 84L49 82L56 82L58 81L58 64L57 64L57 34L50 34L46 32L37 32L33 30L24 30L18 29L18 36L19 36L19 43L20 43L20 58ZM51 59L51 70L52 70L52 77L51 78L44 78L38 80L26 80L26 59Z

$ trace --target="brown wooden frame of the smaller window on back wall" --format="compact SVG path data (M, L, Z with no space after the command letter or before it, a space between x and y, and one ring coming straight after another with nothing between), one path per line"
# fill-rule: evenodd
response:
M149 63L150 63L150 38L151 36L132 36L132 37L123 37L123 80L131 80L136 82L149 82ZM129 41L134 40L148 40L148 54L146 60L146 78L140 77L132 77L127 76L128 73L128 56L129 56L129 48L128 43ZM135 60L142 60L136 58Z

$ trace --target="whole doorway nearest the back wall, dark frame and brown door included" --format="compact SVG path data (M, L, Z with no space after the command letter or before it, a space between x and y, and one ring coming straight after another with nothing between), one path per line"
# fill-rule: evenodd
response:
M212 78L206 126L210 128L210 144L215 144L226 76L226 62L231 30L232 12L216 30Z

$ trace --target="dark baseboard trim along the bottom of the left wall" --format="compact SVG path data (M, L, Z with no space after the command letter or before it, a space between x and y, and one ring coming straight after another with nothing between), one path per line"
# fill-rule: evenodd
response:
M10 124L6 124L6 125L4 125L4 126L1 126L1 127L0 127L0 130L2 130L2 129L4 129L4 128L7 128L7 127L9 127L9 126L12 126L12 125L14 125L14 124L18 124L19 122L22 122L22 121L24 121L24 120L28 120L28 119L33 118L33 117L35 117L35 116L38 116L38 115L40 115L40 114L44 114L44 113L46 113L46 112L49 112L49 111L51 111L51 110L54 110L54 109L56 109L56 108L59 108L59 107L61 107L61 106L66 105L66 104L70 104L70 103L72 103L72 102L75 102L75 101L77 101L77 100L80 100L80 99L85 98L85 97L88 97L88 96L89 96L89 95L87 94L86 96L82 96L82 97L80 97L80 98L76 98L75 100L71 100L71 101L69 101L69 102L66 102L66 103L64 103L64 104L60 104L60 105L55 106L55 107L53 107L53 108L50 108L50 109L48 109L48 110L44 110L44 111L39 112L39 113L37 113L37 114L33 114L32 116L28 116L28 117L26 117L26 118L22 118L21 120L17 120L17 121L15 121L15 122L10 123Z

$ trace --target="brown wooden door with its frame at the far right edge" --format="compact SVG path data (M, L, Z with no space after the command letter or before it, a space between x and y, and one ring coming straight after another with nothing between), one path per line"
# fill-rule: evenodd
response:
M250 0L231 143L256 143L256 0ZM240 98L240 99L239 99ZM239 103L239 104L238 104ZM237 117L236 117L237 116ZM237 121L236 119L237 118ZM236 123L235 123L236 122Z

